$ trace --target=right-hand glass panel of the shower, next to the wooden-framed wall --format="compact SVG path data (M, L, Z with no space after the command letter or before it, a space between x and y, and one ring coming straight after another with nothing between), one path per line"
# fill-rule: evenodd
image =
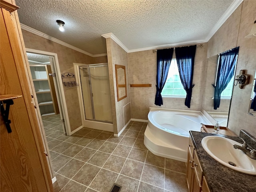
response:
M108 66L89 66L94 118L112 122Z

